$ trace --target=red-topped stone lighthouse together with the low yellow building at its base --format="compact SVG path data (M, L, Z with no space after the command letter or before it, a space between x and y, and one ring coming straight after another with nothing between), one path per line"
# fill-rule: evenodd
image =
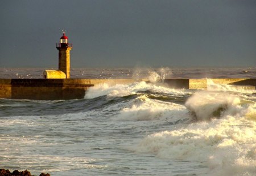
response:
M72 44L68 42L68 36L63 31L60 42L56 43L59 50L59 70L44 70L44 79L69 79L70 78L70 50Z

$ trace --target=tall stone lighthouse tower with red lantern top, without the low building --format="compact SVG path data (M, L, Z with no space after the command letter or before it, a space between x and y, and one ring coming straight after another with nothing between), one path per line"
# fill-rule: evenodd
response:
M59 50L59 70L66 74L66 78L70 78L70 50L72 49L72 44L68 43L68 37L60 37L60 42L56 44L57 50Z

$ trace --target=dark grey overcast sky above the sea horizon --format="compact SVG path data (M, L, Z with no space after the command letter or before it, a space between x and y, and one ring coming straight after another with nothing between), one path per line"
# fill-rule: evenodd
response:
M255 0L1 0L0 67L256 66Z

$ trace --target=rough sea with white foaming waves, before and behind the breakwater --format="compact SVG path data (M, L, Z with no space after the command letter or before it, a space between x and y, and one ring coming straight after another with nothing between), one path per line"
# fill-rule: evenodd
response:
M56 68L0 68L42 78ZM80 100L0 99L0 168L51 175L256 175L256 91L211 78L256 78L256 67L72 68L99 84ZM208 89L163 79L207 78Z

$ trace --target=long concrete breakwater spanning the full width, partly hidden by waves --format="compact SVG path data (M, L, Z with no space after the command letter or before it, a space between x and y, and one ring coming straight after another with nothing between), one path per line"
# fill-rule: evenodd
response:
M210 79L215 84L228 84L255 89L256 79ZM31 100L70 100L84 98L86 90L97 84L131 84L147 79L0 79L0 98ZM166 87L207 89L207 79L164 79ZM156 83L157 84L157 83Z

